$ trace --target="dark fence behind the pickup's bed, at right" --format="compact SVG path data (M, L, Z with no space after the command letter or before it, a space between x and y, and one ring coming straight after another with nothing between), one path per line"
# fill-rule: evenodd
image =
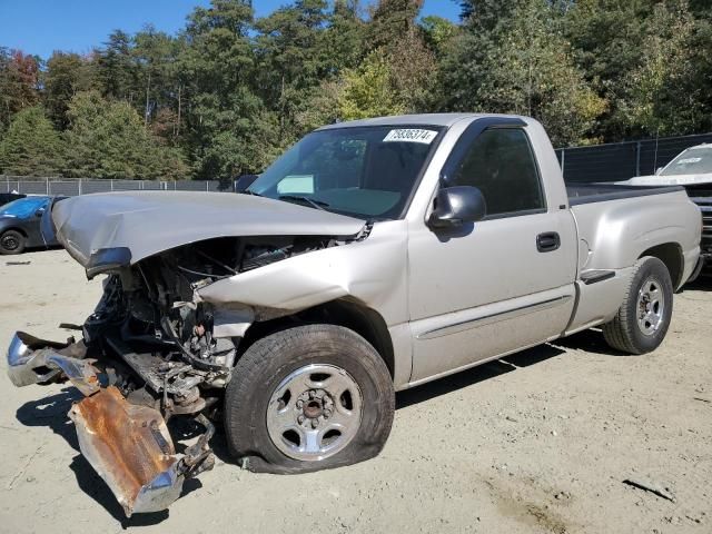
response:
M703 142L712 142L712 134L560 148L556 157L566 181L617 181L654 175L685 148Z

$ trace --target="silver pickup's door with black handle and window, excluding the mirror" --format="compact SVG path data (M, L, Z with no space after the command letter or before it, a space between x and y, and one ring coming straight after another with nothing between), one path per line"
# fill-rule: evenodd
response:
M557 337L571 317L573 218L547 205L525 123L505 126L463 134L443 177L442 187L477 187L486 217L411 228L412 384Z

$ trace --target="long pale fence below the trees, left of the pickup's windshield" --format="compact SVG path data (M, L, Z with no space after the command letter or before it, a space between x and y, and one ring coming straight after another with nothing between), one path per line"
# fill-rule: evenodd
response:
M233 191L231 186L220 187L220 181L158 181L158 180L109 180L96 178L33 178L0 175L0 192L23 195L76 196L108 191Z

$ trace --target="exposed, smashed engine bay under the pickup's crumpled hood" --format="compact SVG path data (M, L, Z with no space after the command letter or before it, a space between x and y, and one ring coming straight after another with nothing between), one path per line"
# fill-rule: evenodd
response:
M202 412L230 380L240 344L240 337L229 335L234 329L220 332L221 319L233 320L241 312L251 323L278 312L217 309L196 291L338 244L315 237L217 238L147 258L106 279L101 301L83 325L85 342L120 358L108 367L109 384L130 402L150 402L166 417Z

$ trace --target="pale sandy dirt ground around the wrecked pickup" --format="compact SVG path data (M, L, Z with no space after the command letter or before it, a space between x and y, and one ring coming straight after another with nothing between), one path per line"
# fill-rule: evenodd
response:
M62 250L2 257L0 340L66 338L57 325L81 323L99 294ZM2 358L0 532L710 533L712 280L674 305L654 354L616 355L586 332L398 394L386 448L359 465L256 475L218 434L212 472L130 521L78 452L72 390L16 388Z

